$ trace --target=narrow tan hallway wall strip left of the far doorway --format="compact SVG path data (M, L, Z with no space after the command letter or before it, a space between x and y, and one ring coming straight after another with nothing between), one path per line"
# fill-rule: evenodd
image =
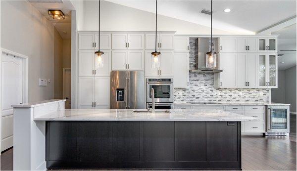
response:
M63 81L63 40L57 31L54 28L54 80L53 80L53 98L61 99L62 98L62 81Z

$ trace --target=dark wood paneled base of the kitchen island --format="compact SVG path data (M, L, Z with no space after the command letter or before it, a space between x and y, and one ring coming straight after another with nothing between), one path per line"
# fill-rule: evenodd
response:
M46 121L48 169L241 170L241 122Z

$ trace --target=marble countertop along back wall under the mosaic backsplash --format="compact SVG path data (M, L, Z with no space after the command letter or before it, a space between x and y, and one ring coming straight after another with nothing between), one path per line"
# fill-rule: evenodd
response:
M203 102L184 102L184 101L178 101L174 102L174 105L221 105L221 106L288 106L290 104L284 104L284 103L257 103L257 102L211 102L211 103L203 103Z

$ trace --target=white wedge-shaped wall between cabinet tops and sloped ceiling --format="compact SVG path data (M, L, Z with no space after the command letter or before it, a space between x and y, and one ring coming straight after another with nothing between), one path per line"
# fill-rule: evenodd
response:
M84 1L83 30L98 30L99 2ZM154 31L155 14L143 10L101 1L100 29L102 31ZM77 14L79 15L79 14ZM176 31L176 34L210 34L210 28L171 17L158 15L158 31ZM78 28L80 30L80 28ZM213 29L213 34L228 32ZM231 33L229 33L231 34Z

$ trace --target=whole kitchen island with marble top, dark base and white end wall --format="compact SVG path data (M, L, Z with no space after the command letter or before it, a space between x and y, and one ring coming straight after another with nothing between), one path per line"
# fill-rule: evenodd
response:
M13 107L14 170L241 170L241 122L257 120L220 110L64 109L63 100Z

